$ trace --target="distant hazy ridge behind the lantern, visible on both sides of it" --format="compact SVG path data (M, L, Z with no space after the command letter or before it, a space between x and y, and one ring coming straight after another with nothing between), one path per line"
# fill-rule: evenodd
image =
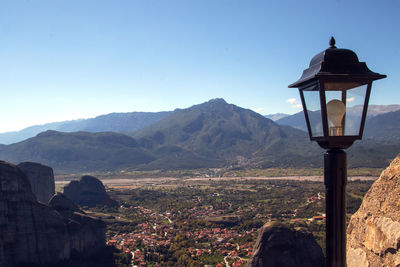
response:
M368 113L367 113L367 120L369 120L375 116L378 116L378 115L382 115L382 114L393 112L393 111L399 111L399 110L400 110L400 105L369 105ZM350 107L347 110L347 114L348 114L350 120L359 120L361 112L362 112L361 105ZM317 113L314 113L314 116L316 116L315 114L317 114ZM315 119L317 119L317 118L315 118ZM276 123L278 123L280 125L292 126L294 128L297 128L297 129L307 132L307 126L306 126L306 121L304 119L303 111L300 111L293 115L289 115L289 116L283 117L281 119L278 119L278 120L276 120ZM367 123L367 125L368 125L368 123Z

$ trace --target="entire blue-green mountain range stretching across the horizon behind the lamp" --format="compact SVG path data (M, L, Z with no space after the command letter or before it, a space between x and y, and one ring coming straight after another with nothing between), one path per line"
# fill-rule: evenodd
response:
M375 119L377 124L381 119L387 120L385 125L391 126L393 123L390 120L396 120L398 115L386 118L388 114L371 119ZM21 142L0 145L0 159L12 163L40 162L52 166L56 172L68 173L214 167L320 167L323 164L323 150L309 141L306 132L279 125L223 99L213 99L173 112L135 115L136 118L130 113L109 114L100 116L103 123L99 123L97 128L94 122L99 117L91 121L91 128L86 122L87 131L67 133L48 130ZM152 122L143 119L145 122L142 125L145 126L134 130L138 129L138 118L144 116ZM124 117L126 123L121 123ZM89 132L88 129L111 129L123 133ZM396 127L391 129L393 136L399 131ZM380 130L384 131L383 127ZM349 150L349 164L357 167L385 166L399 150L400 141L395 138L393 142L367 138Z

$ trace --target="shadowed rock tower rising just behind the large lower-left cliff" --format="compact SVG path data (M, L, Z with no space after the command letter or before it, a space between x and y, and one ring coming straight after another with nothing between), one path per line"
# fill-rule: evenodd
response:
M37 200L47 204L55 193L53 169L35 162L23 162L18 167L27 176Z

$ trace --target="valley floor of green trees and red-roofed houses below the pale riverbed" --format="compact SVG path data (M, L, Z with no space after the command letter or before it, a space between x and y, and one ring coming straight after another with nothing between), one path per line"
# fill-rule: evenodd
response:
M371 181L349 182L354 213ZM268 221L303 227L324 247L324 185L288 180L176 180L165 185L110 189L119 209L95 208L107 238L148 266L204 266L249 259L258 229ZM124 242L121 242L124 241ZM159 264L159 265L157 265Z

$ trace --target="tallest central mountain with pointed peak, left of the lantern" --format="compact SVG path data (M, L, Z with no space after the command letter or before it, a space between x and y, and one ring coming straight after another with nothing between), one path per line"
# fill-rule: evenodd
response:
M223 99L176 110L134 137L151 149L179 147L228 164L291 165L315 151L306 133Z

